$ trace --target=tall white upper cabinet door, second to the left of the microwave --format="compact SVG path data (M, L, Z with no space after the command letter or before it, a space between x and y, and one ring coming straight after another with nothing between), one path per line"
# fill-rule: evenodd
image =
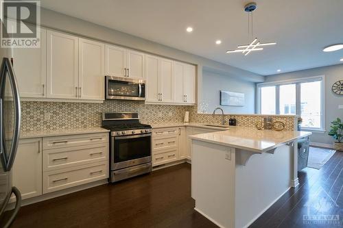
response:
M47 97L78 99L78 38L47 31Z

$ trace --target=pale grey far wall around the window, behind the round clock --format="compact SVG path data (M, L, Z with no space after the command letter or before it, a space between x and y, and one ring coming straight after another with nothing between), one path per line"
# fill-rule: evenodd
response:
M343 105L343 96L332 92L331 86L335 81L343 80L343 64L335 66L324 66L319 68L312 68L304 71L295 71L292 73L283 73L280 75L269 75L265 77L265 82L281 81L285 79L298 79L301 77L311 77L324 75L325 81L325 123L326 130L330 129L330 123L335 118L343 118L343 110L338 109L338 105ZM325 144L332 144L333 138L324 133L313 132L310 136L311 142L320 142Z

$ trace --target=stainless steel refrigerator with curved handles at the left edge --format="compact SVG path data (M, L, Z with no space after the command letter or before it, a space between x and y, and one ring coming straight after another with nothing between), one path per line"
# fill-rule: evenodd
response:
M0 69L0 227L10 227L21 206L21 193L12 186L11 176L20 124L21 103L16 77L11 59L3 57ZM14 209L4 213L12 193L16 197Z

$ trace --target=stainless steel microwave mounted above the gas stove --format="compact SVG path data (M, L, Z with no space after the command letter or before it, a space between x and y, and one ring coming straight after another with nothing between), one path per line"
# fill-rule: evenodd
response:
M123 77L105 77L106 99L145 100L145 80Z

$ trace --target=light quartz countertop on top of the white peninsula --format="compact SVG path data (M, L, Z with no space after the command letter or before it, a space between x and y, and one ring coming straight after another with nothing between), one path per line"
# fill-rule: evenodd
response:
M198 134L189 138L263 153L309 135L311 135L309 131L273 131L258 130L255 127L233 127L226 131Z

